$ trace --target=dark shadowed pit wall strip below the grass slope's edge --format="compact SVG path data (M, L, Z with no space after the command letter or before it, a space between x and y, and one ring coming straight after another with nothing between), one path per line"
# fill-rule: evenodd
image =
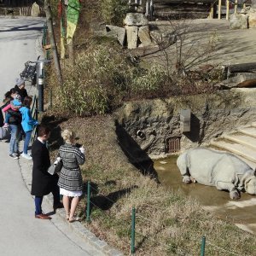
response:
M119 140L119 146L133 166L143 175L154 178L157 183L160 183L158 174L154 170L154 162L148 154L140 148L137 142L125 129L116 121L116 134Z

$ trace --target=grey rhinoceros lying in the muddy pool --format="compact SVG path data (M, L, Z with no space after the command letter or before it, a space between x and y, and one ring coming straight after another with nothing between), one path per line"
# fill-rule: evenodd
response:
M244 190L256 195L255 171L234 154L191 148L178 156L177 167L184 183L194 181L229 190L231 199L239 199Z

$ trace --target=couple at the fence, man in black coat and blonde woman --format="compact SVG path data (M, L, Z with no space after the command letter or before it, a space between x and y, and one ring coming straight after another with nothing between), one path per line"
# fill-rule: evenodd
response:
M84 147L76 146L75 133L64 130L61 137L64 145L59 149L59 157L62 161L60 173L50 175L49 151L46 141L49 139L50 130L46 125L39 125L38 138L32 143L32 195L35 195L35 218L50 219L42 212L42 202L44 195L53 194L54 211L64 207L66 218L69 222L79 221L75 216L79 198L83 194L83 179L79 165L84 164ZM60 201L62 195L62 202Z

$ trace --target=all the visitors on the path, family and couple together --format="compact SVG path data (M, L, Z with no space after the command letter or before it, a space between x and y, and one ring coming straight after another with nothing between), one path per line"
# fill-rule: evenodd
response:
M27 95L25 81L18 79L15 87L5 94L1 109L3 110L3 127L10 130L9 156L18 159L19 156L26 160L32 160L32 190L35 196L35 218L50 219L49 215L42 211L44 195L53 194L54 211L57 208L65 208L66 218L69 222L78 221L75 211L79 204L79 198L83 194L83 179L79 165L84 164L84 147L75 144L75 133L64 130L61 137L64 145L59 149L59 157L62 161L61 172L51 175L48 172L50 166L49 150L46 142L50 136L48 125L38 123L32 119L32 97ZM38 125L38 137L32 143L31 154L28 154L28 146L32 136L32 130ZM20 138L24 136L23 152L19 151ZM62 202L61 202L62 195Z

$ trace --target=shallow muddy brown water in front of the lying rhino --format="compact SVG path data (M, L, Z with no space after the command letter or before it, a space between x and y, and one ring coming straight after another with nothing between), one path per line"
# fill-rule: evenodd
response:
M241 193L238 201L230 200L230 193L219 191L215 187L199 183L185 184L176 165L177 156L164 160L155 160L154 169L158 173L160 183L181 191L201 203L208 211L214 212L219 218L231 220L242 230L256 234L256 196Z

